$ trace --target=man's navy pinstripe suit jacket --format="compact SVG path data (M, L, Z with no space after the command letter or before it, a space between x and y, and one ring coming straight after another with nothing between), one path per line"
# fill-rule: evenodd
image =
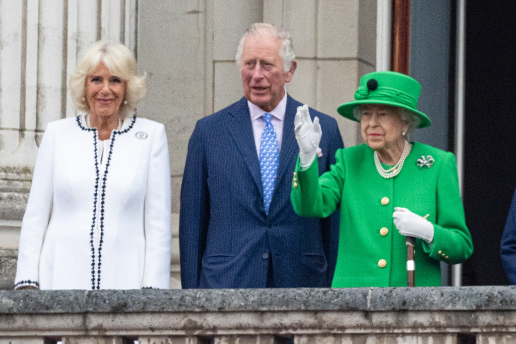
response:
M246 98L200 119L188 144L179 240L183 288L264 288L269 259L276 287L329 287L335 267L338 214L302 218L290 201L299 148L287 96L280 164L269 214ZM334 118L310 109L322 127L324 173L343 147Z

